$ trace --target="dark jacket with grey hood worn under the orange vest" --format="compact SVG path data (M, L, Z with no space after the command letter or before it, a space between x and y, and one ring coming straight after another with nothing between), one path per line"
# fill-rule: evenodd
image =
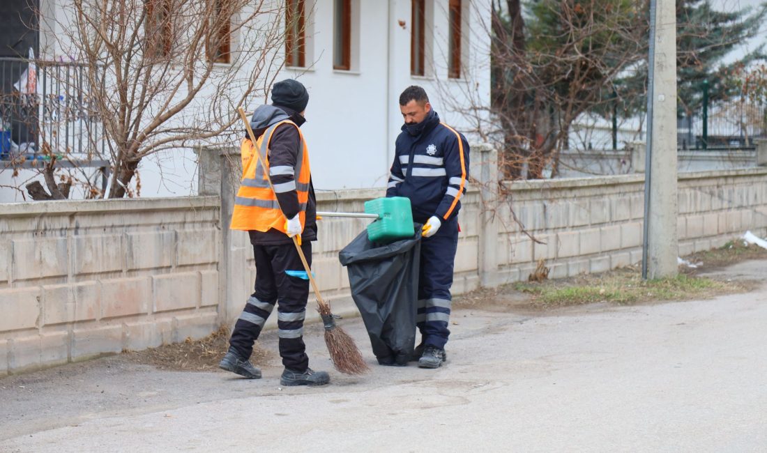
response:
M261 110L265 110L266 114L258 117L256 113L253 115L251 121L251 127L255 138L264 135L269 126L278 123L282 120L291 120L296 123L297 126L305 123L304 117L301 117L297 112L288 109L288 107L282 106L262 106ZM255 122L254 122L255 120ZM245 133L247 136L247 132ZM298 159L298 147L301 146L301 136L298 134L295 126L291 124L281 124L277 126L274 134L272 135L272 141L269 143L269 166L296 166L296 160ZM311 156L311 155L310 155ZM293 175L279 175L272 177L272 184L281 184L283 182L290 182L295 179ZM290 192L283 192L277 194L277 200L280 202L282 213L286 218L293 218L298 214L301 209L298 205L298 194L295 190ZM277 231L274 228L269 231L248 231L250 235L250 242L252 245L278 245L278 244L291 244L293 241L288 235L285 235L282 231ZM317 240L317 198L314 195L314 185L309 179L309 199L306 204L306 222L304 225L304 232L301 233L301 241L316 241Z

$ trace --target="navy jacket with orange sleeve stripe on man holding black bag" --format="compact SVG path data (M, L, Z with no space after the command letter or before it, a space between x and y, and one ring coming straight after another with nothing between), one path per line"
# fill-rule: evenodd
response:
M458 215L468 179L469 143L440 123L434 110L421 123L402 126L386 195L410 199L414 221L436 215L445 222Z

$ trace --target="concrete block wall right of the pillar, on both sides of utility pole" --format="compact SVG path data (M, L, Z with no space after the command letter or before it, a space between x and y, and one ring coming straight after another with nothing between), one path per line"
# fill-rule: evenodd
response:
M641 261L643 175L512 182L504 191L499 283L527 280L539 259L551 278ZM680 256L720 247L749 229L767 235L765 169L680 173L677 196Z

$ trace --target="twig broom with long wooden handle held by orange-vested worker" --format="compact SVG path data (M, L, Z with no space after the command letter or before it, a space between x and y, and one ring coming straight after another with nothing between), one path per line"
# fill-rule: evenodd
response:
M238 111L240 117L242 117L242 121L245 123L245 128L248 130L248 136L250 137L252 143L255 145L255 134L250 127L250 121L245 115L245 110L243 110L242 107L239 107ZM266 166L266 162L264 162L264 158L261 156L261 153L258 152L258 149L255 150L255 155L258 156L258 162L261 163L261 166L265 170L264 176L269 182L269 187L272 189L272 192L274 192L275 186L272 185L272 178L269 177L269 172L267 169L268 167ZM279 206L277 192L275 192L275 200L277 200L277 205ZM281 210L282 208L280 208L280 211ZM301 244L299 243L301 240L300 235L295 235L292 237L292 239L293 245L295 245L295 249L298 251L298 256L301 257L301 263L304 264L304 270L309 277L309 281L311 281L311 287L314 289L314 296L317 297L317 310L320 312L322 323L325 327L325 344L328 346L328 352L331 355L331 360L333 360L333 365L341 373L365 373L369 368L367 363L365 363L364 359L362 358L360 350L357 349L357 345L354 344L354 340L352 340L351 336L344 332L341 327L336 326L333 314L331 313L331 306L322 299L320 290L317 287L317 282L314 281L314 277L311 274L311 268L309 268L309 264L306 261L306 257L304 256L304 251L301 250Z

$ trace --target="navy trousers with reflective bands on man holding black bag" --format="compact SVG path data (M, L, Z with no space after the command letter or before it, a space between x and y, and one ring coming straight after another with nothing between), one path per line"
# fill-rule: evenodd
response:
M450 287L458 246L458 217L443 222L439 230L421 241L418 278L418 329L426 346L444 348L450 330Z

